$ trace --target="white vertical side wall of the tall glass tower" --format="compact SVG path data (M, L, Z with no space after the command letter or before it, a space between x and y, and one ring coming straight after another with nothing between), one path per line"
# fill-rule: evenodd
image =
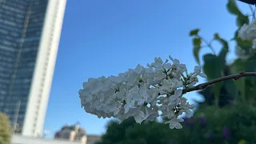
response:
M49 0L22 134L40 137L44 126L66 0Z

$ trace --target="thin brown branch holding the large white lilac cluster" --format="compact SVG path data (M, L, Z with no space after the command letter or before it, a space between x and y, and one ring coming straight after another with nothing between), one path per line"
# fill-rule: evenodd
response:
M217 82L222 82L222 81L226 81L226 80L230 80L230 79L237 80L238 78L242 78L242 77L256 77L256 72L240 72L239 74L232 74L232 75L224 76L221 78L215 78L213 80L210 80L209 82L201 83L198 86L194 86L194 87L185 89L185 90L183 90L183 94L190 92L190 91L194 91L194 90L202 90L202 89L206 88L207 86L210 86Z

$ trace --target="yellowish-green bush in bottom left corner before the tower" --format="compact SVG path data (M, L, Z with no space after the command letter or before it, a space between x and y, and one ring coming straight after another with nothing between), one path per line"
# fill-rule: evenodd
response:
M0 113L0 144L10 144L11 131L8 116Z

